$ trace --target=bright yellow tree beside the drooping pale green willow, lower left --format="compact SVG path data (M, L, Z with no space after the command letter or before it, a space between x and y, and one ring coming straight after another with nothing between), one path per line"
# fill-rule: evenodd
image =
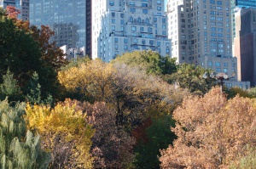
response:
M53 161L52 166L57 162L66 168L91 168L90 138L94 130L86 123L85 114L75 109L76 102L70 103L70 100L66 100L56 104L54 109L45 105L26 104L27 127L43 136L44 149L58 150L54 149L56 144L63 143L70 147L69 160ZM58 153L54 152L53 155ZM57 158L53 156L53 159Z

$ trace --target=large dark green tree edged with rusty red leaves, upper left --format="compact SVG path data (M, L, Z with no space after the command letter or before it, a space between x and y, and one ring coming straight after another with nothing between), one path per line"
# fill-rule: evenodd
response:
M39 30L26 21L17 20L12 17L14 11L15 8L9 10L8 14L3 9L0 12L0 75L6 74L9 69L26 95L27 85L36 71L44 91L42 99L49 94L56 98L61 87L56 78L57 70L67 61L61 49L54 42L49 42L54 32L48 26L42 26Z

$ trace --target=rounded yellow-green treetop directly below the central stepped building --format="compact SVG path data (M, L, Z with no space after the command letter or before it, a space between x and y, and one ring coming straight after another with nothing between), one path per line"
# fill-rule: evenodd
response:
M134 51L112 60L113 64L125 64L146 71L147 74L166 75L176 72L175 59L160 56L153 51Z

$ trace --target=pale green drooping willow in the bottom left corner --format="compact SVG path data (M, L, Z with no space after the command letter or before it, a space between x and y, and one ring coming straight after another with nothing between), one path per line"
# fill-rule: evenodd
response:
M7 100L0 102L0 167L47 168L50 156L40 148L39 136L26 131L22 119L25 104L10 107Z

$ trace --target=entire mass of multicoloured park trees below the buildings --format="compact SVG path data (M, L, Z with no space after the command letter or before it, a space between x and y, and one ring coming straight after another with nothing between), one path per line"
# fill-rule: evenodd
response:
M153 51L69 60L0 8L1 168L253 168L256 89Z

